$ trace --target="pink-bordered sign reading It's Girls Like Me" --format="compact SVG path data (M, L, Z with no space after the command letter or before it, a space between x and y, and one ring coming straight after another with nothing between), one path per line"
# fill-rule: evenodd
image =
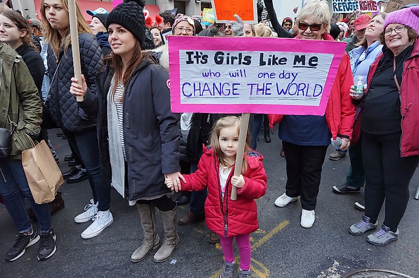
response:
M345 46L170 36L172 111L323 115Z

